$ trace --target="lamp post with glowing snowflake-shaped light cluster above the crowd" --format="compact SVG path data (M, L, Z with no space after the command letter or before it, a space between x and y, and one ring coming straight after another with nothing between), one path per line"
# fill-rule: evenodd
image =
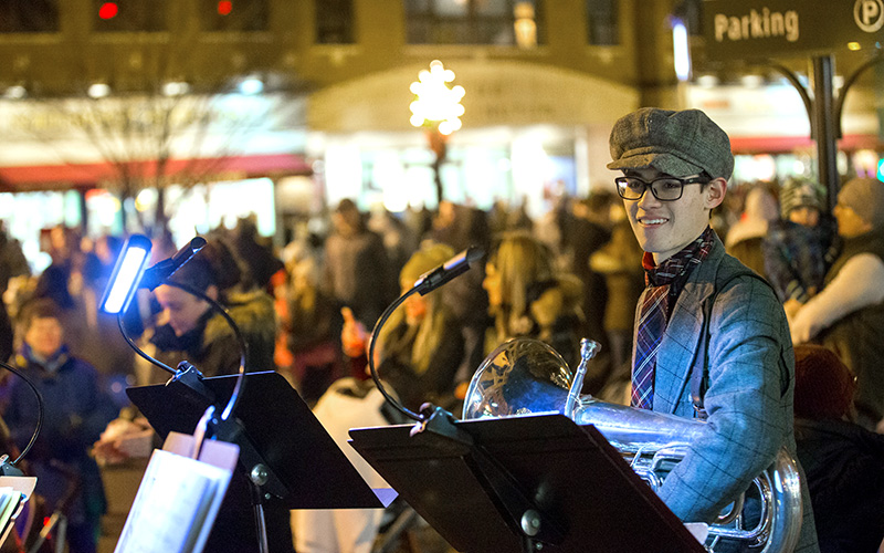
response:
M411 124L424 127L430 142L430 149L435 154L433 175L435 178L436 200L442 201L442 177L440 168L445 160L448 137L461 128L463 106L461 98L464 95L463 86L451 86L454 72L446 70L442 62L433 60L430 71L423 70L418 74L418 81L411 83L414 101L411 103Z

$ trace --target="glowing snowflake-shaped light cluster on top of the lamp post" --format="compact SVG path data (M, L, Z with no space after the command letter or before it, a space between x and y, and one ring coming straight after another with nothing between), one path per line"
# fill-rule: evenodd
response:
M438 126L439 132L446 136L461 128L461 98L465 91L463 86L449 85L454 81L454 72L434 60L430 63L430 71L421 71L418 79L410 87L417 96L411 103L411 124L415 127Z

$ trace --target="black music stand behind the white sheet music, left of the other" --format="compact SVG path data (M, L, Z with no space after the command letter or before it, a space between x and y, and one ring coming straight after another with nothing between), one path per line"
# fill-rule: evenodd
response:
M238 375L203 378L215 405L227 403ZM235 416L243 431L230 441L240 446L239 468L250 481L263 467L261 490L282 498L290 509L382 509L396 498L391 489L372 489L326 432L309 407L275 372L248 373L248 386ZM192 434L212 404L185 385L126 389L131 403L162 439L170 431Z

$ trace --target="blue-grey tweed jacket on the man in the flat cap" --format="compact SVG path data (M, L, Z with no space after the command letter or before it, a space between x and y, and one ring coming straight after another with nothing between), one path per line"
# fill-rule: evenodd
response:
M794 457L794 354L786 314L772 289L748 271L715 237L678 295L657 351L653 410L694 418L691 374L707 348L708 425L659 491L685 522L714 520L781 447ZM712 319L702 336L705 313ZM803 478L801 491L803 522L796 551L819 551Z

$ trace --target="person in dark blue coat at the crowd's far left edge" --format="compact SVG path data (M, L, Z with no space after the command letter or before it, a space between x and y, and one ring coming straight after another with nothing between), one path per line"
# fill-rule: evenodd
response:
M95 368L69 353L62 312L52 300L29 302L19 330L14 363L33 382L45 409L43 429L28 456L35 492L67 517L71 553L95 553L107 503L90 448L117 409L101 392ZM3 417L15 445L24 448L36 425L36 399L21 378L11 378L9 387Z

